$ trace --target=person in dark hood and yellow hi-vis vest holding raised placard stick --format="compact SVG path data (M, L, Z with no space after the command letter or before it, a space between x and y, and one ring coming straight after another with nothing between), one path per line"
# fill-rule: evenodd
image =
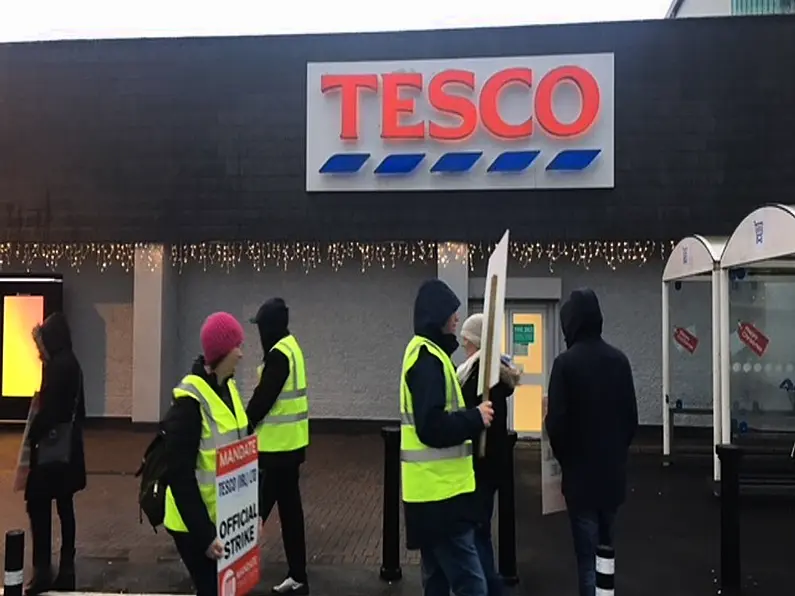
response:
M400 376L400 472L406 546L420 551L425 596L487 596L475 544L472 439L491 424L490 402L466 409L450 356L461 302L438 279L414 302L414 337Z

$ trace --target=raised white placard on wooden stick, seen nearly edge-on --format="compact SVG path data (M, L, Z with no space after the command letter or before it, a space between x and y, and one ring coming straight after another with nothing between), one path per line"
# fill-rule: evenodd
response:
M494 387L500 381L500 349L502 336L505 332L505 278L508 275L508 243L510 231L506 230L502 240L497 243L489 257L486 269L486 290L483 293L483 331L480 345L482 346L481 364L478 373L478 387L480 394L486 393L486 388ZM492 286L492 279L496 283ZM492 309L492 304L494 307ZM494 320L490 313L494 312ZM486 379L485 359L491 362L489 378ZM488 383L488 386L486 385Z

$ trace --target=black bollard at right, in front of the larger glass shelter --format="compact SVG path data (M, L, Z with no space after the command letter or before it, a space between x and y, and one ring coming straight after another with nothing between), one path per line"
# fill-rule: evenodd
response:
M740 592L740 459L737 445L718 445L720 459L720 581L724 594Z

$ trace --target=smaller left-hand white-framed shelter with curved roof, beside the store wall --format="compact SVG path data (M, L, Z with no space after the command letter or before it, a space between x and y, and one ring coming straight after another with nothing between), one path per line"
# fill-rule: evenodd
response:
M673 249L663 270L662 279L662 405L663 405L663 459L671 457L675 419L684 416L711 416L713 442L721 441L721 376L720 376L720 260L726 238L688 236ZM671 347L675 343L680 349L693 354L698 347L698 338L693 329L671 324L671 286L681 290L683 284L706 282L711 288L710 321L712 328L712 391L709 407L695 407L683 403L671 395ZM673 399L672 399L673 398ZM713 456L713 477L720 480L717 456Z

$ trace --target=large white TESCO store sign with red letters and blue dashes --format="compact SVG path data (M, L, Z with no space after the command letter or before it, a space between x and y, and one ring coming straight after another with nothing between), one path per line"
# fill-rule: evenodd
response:
M307 65L306 190L612 188L613 54Z

